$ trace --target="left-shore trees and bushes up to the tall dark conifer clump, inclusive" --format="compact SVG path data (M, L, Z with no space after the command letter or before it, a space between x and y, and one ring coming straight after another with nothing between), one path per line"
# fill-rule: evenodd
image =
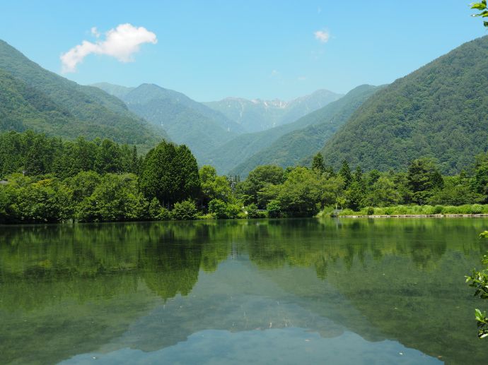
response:
M167 208L206 197L190 150L165 141L143 159L108 139L12 131L0 135L0 176L0 222L189 219Z

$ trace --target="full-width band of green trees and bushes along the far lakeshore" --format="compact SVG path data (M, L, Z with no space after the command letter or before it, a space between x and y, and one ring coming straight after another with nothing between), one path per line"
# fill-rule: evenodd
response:
M0 135L0 177L4 223L488 210L487 153L454 176L443 176L429 158L405 172L352 171L346 161L335 171L319 153L310 167L264 165L240 181L208 165L199 169L185 145L165 140L140 155L108 139L64 141L27 131Z

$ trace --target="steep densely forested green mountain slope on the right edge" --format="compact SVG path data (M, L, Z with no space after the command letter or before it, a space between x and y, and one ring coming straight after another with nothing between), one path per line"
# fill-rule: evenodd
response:
M359 108L325 144L336 168L405 169L435 157L443 173L488 150L488 36L467 42L396 80Z

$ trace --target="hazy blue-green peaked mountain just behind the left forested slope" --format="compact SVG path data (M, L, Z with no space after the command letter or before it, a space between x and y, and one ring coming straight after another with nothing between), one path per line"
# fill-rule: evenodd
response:
M181 92L153 84L142 84L137 88L108 83L95 85L119 95L132 112L162 126L176 143L185 143L199 161L207 150L243 133L239 124Z

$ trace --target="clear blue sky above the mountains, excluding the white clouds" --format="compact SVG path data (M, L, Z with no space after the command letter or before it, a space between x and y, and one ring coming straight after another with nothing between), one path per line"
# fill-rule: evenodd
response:
M470 2L3 1L0 39L81 84L156 83L198 101L289 100L390 83L487 35ZM62 73L62 54L124 23L154 33L157 43L142 44L132 62L88 54L76 72Z

